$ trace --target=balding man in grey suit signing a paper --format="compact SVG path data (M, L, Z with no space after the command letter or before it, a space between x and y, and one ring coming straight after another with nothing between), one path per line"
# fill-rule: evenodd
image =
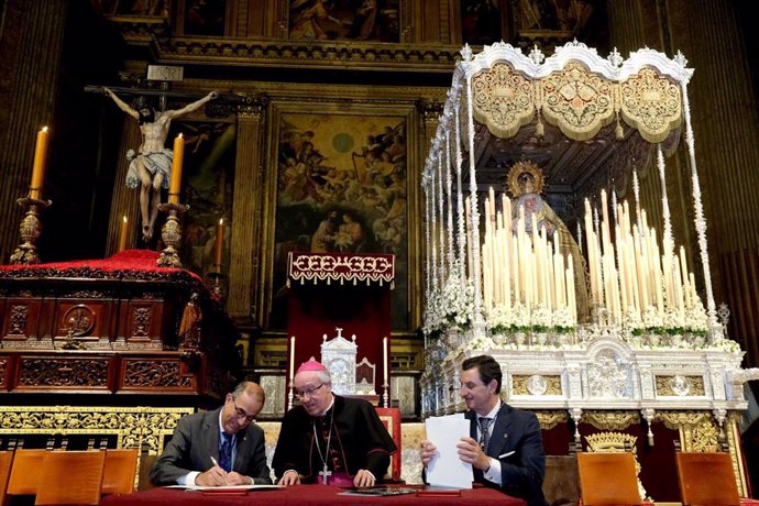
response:
M240 383L224 405L179 419L151 470L154 485L271 484L264 431L253 424L266 396L260 385Z

